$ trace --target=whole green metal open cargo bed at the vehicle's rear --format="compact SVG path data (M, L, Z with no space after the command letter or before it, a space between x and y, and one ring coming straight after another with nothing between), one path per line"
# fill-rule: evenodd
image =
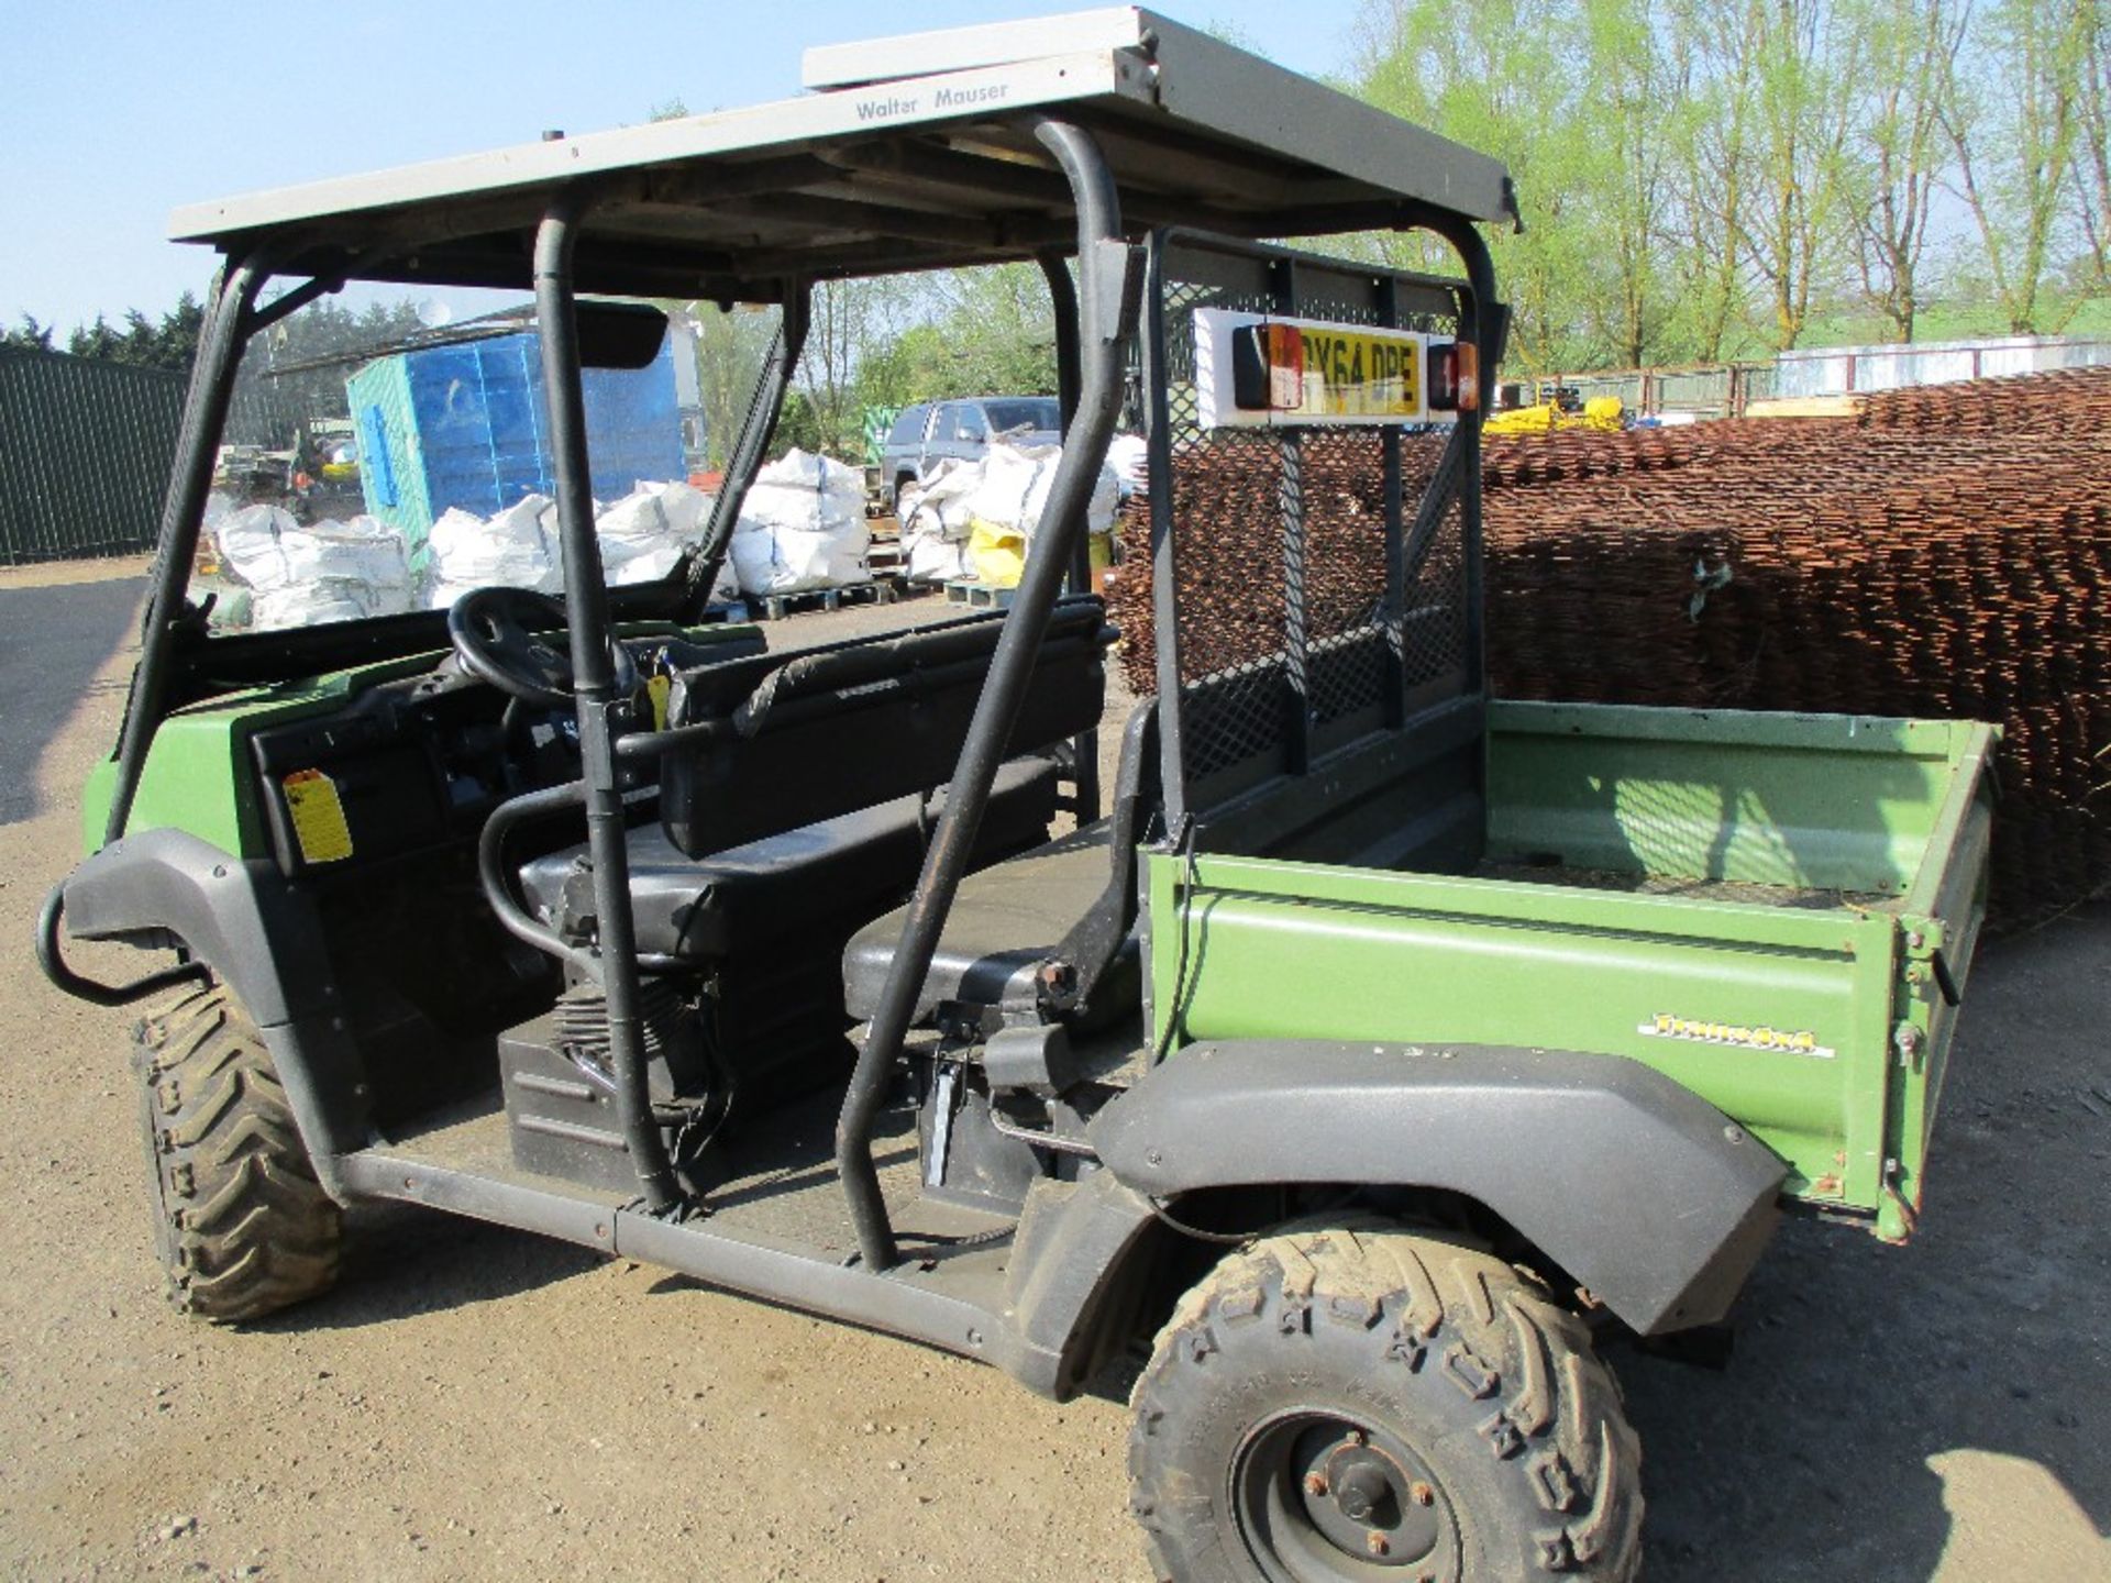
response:
M1904 1239L1984 916L1991 726L1488 709L1467 874L1148 859L1153 1032L1636 1060Z

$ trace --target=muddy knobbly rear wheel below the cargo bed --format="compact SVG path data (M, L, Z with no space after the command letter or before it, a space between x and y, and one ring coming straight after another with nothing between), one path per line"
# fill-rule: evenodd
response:
M1590 1334L1478 1247L1296 1228L1182 1298L1131 1393L1174 1583L1625 1583L1640 1446Z

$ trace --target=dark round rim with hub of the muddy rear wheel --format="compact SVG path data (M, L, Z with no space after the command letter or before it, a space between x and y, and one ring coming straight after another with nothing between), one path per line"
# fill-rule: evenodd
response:
M1256 1425L1231 1467L1231 1507L1269 1583L1457 1583L1444 1486L1397 1435L1324 1408Z

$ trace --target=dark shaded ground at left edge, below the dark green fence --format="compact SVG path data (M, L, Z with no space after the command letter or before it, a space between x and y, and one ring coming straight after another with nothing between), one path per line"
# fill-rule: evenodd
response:
M44 749L80 699L97 688L122 692L122 678L97 673L133 640L144 593L144 576L0 589L0 825L44 810Z

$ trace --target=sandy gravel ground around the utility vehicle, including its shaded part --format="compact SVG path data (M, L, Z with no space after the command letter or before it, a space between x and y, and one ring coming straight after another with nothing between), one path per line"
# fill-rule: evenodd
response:
M361 1214L334 1296L169 1313L129 1015L27 950L139 587L61 580L0 576L0 1570L1146 1577L1119 1406L652 1269ZM2111 1577L2107 952L2098 912L1982 956L1910 1250L1790 1226L1727 1374L1615 1359L1651 1579Z

